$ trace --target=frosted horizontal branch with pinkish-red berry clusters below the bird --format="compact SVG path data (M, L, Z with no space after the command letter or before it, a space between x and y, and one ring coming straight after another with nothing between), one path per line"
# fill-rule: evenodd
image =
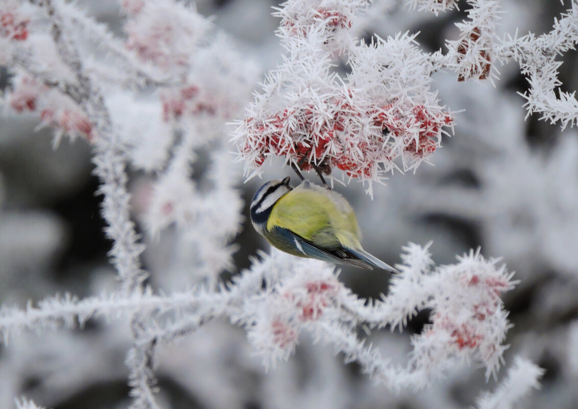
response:
M139 341L127 362L141 400L152 387L151 368L145 364L152 359L154 345L194 332L215 317L229 317L245 326L267 365L288 359L305 330L394 389L423 388L460 356L482 362L488 375L495 373L509 328L499 295L513 288L512 274L479 252L459 258L456 265L434 269L426 248L410 244L405 251L405 263L389 295L374 302L353 295L336 279L332 266L273 251L228 289L135 294L128 299L117 295L47 299L37 308L3 310L0 332L6 338L25 328L53 328L57 323L73 327L91 317L138 317ZM402 329L407 319L426 308L432 310L432 324L413 337L414 351L405 368L392 365L357 335L360 326Z

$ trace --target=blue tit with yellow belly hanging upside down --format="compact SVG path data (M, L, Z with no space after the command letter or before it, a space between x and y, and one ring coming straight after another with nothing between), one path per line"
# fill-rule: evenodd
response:
M251 222L269 243L300 257L398 272L363 250L355 213L342 195L307 180L292 188L289 180L265 183L251 201Z

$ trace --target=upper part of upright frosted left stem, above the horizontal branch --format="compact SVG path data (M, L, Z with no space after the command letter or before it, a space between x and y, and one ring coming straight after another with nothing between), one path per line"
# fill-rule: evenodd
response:
M94 140L94 173L101 179L99 192L104 195L102 205L103 218L108 223L106 233L113 240L110 251L112 262L121 280L121 291L131 293L140 291L140 284L146 273L140 267L142 244L138 243L134 224L129 218L129 199L127 192L127 174L125 159L117 144L110 115L106 109L101 91L88 78L80 60L75 44L64 31L62 17L51 0L30 0L46 9L52 23L51 35L57 46L62 62L71 68L77 84L67 87L66 94L82 107L98 136Z

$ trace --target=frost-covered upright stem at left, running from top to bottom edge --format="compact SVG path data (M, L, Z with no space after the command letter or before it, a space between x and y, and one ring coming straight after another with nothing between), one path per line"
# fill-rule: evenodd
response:
M95 155L94 173L101 179L99 192L104 195L102 204L103 218L108 222L106 234L113 240L110 251L112 262L117 269L121 280L121 292L125 294L141 293L142 282L146 273L140 267L140 253L144 250L138 243L135 227L129 217L129 200L127 192L127 174L125 172L125 158L118 146L114 135L112 120L98 87L88 78L83 70L80 55L71 38L66 35L62 16L57 12L51 0L31 0L43 6L50 18L51 35L57 47L62 62L68 65L74 73L77 86L71 88L71 96L81 108L86 111L97 137L94 140ZM142 365L131 367L132 392L135 395L133 406L139 407L141 402L147 403L147 408L156 407L152 397L154 385L153 354L154 343L143 347L138 337L142 318L135 315L131 322L131 329L135 338L133 361ZM127 360L130 360L129 356Z

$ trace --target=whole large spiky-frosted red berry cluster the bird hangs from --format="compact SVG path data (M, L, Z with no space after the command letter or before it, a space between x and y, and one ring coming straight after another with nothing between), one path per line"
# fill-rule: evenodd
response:
M280 156L302 170L379 181L416 169L440 146L453 118L431 91L432 67L415 35L359 42L350 28L361 1L282 6L277 34L290 55L234 133L246 171ZM339 54L346 76L334 68Z

